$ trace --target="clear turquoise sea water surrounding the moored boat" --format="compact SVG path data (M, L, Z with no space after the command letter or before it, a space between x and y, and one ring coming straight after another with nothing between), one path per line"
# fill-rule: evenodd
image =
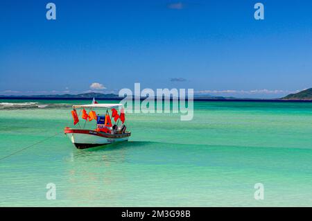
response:
M0 100L17 102L33 101ZM312 206L312 103L195 102L193 121L127 114L130 141L77 150L62 130L84 101L35 102L48 106L0 109L0 158L60 134L0 160L0 206Z

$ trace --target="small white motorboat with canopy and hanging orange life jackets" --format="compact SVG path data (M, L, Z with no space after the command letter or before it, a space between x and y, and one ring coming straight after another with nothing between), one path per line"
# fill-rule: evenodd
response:
M91 105L73 105L74 125L79 124L79 115L82 114L82 118L85 120L85 125L88 121L96 121L96 130L89 130L85 128L71 128L65 127L64 134L66 134L71 143L78 149L93 148L96 146L106 145L115 142L128 141L131 132L126 131L126 127L123 124L125 121L125 115L121 104L98 104L93 102ZM96 114L92 109L104 109L106 114ZM117 108L121 108L120 114L116 111ZM76 109L80 109L80 113L77 114ZM85 109L90 109L89 114ZM112 111L112 118L114 118L115 124L112 125L110 111ZM121 125L119 125L121 122ZM85 127L85 126L84 126Z

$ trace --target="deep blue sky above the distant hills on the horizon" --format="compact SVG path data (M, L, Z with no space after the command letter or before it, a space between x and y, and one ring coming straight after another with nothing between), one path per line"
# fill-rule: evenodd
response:
M312 87L311 43L312 1L1 1L0 94L118 93L140 82L275 98Z

